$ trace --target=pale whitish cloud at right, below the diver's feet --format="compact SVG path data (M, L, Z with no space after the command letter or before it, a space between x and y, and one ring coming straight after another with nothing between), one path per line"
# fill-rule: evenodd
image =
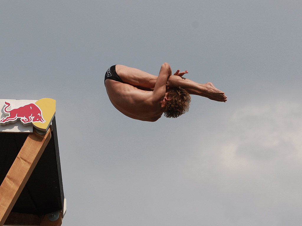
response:
M236 110L188 162L188 176L222 192L298 204L302 201L302 106L271 103ZM259 204L260 205L260 204ZM268 204L269 205L269 204Z

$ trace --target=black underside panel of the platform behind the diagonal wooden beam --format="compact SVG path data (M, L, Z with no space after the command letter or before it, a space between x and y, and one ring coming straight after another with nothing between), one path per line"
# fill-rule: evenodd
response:
M63 209L64 193L56 119L51 139L21 192L12 212L45 215ZM22 148L28 133L0 133L0 183Z

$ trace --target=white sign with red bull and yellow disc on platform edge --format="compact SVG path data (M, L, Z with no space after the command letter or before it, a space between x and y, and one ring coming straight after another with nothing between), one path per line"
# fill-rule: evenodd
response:
M1 102L4 105L0 132L32 132L32 127L47 131L56 112L56 101L50 98L38 101L0 99L0 108Z

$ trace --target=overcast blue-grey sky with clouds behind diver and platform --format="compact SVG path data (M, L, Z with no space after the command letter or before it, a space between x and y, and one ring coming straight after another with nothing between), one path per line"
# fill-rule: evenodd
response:
M1 1L1 99L56 99L63 225L300 225L302 2ZM143 122L110 103L114 64L162 63L192 96Z

